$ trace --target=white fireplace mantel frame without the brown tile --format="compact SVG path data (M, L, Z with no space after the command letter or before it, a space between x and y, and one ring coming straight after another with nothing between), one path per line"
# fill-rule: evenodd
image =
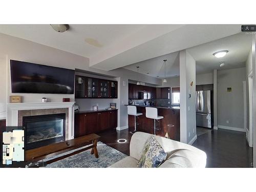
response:
M18 126L18 111L40 109L69 109L69 138L74 138L74 106L75 102L38 102L38 103L7 103L7 126Z

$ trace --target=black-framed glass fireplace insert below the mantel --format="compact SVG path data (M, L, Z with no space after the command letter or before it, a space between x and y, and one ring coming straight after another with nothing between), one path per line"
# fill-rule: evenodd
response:
M26 150L65 141L66 114L24 116Z

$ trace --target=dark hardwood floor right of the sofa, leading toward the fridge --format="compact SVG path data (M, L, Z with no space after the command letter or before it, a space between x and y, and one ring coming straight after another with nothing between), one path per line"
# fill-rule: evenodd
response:
M198 136L193 146L207 154L206 167L252 167L252 147L244 132L212 130Z

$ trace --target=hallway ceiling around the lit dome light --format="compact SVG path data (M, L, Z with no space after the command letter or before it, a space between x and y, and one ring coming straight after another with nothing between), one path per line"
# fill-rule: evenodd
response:
M251 42L252 35L242 32L190 48L188 52L196 60L198 74L211 72L214 69L240 68L245 67ZM228 53L222 58L216 58L213 53L221 50L228 50ZM225 63L225 66L220 68L221 61Z

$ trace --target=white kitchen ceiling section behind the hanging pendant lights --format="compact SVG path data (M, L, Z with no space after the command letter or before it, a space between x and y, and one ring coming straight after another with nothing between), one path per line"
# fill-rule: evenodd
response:
M123 68L137 72L137 66L139 66L139 73L150 75L153 77L164 78L164 62L166 61L166 77L174 77L180 74L179 65L179 52L170 53L153 59L137 62ZM149 73L149 74L147 74Z

